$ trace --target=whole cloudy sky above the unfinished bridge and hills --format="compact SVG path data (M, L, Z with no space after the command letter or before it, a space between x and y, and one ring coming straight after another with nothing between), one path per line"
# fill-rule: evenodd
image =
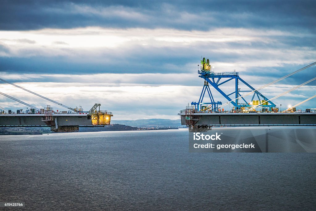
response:
M0 5L0 78L69 107L101 103L116 120L178 119L180 109L198 101L201 56L216 72L239 71L254 87L316 61L314 0ZM261 93L271 98L314 78L314 66ZM0 90L37 108L51 104L9 84L0 83ZM213 92L216 101L227 102ZM286 108L315 92L314 81L273 102ZM4 96L0 107L26 109ZM299 108L315 107L316 98Z

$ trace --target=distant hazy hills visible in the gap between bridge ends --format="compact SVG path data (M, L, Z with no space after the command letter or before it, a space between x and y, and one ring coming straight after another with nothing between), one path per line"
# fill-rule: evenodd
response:
M111 124L128 125L131 127L183 127L181 120L169 119L111 120Z

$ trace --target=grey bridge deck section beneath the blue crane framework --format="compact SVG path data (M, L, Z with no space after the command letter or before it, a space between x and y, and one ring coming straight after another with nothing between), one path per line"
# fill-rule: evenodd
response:
M186 125L185 113L181 124ZM316 126L316 112L293 113L193 113L187 115L197 127L203 126Z

